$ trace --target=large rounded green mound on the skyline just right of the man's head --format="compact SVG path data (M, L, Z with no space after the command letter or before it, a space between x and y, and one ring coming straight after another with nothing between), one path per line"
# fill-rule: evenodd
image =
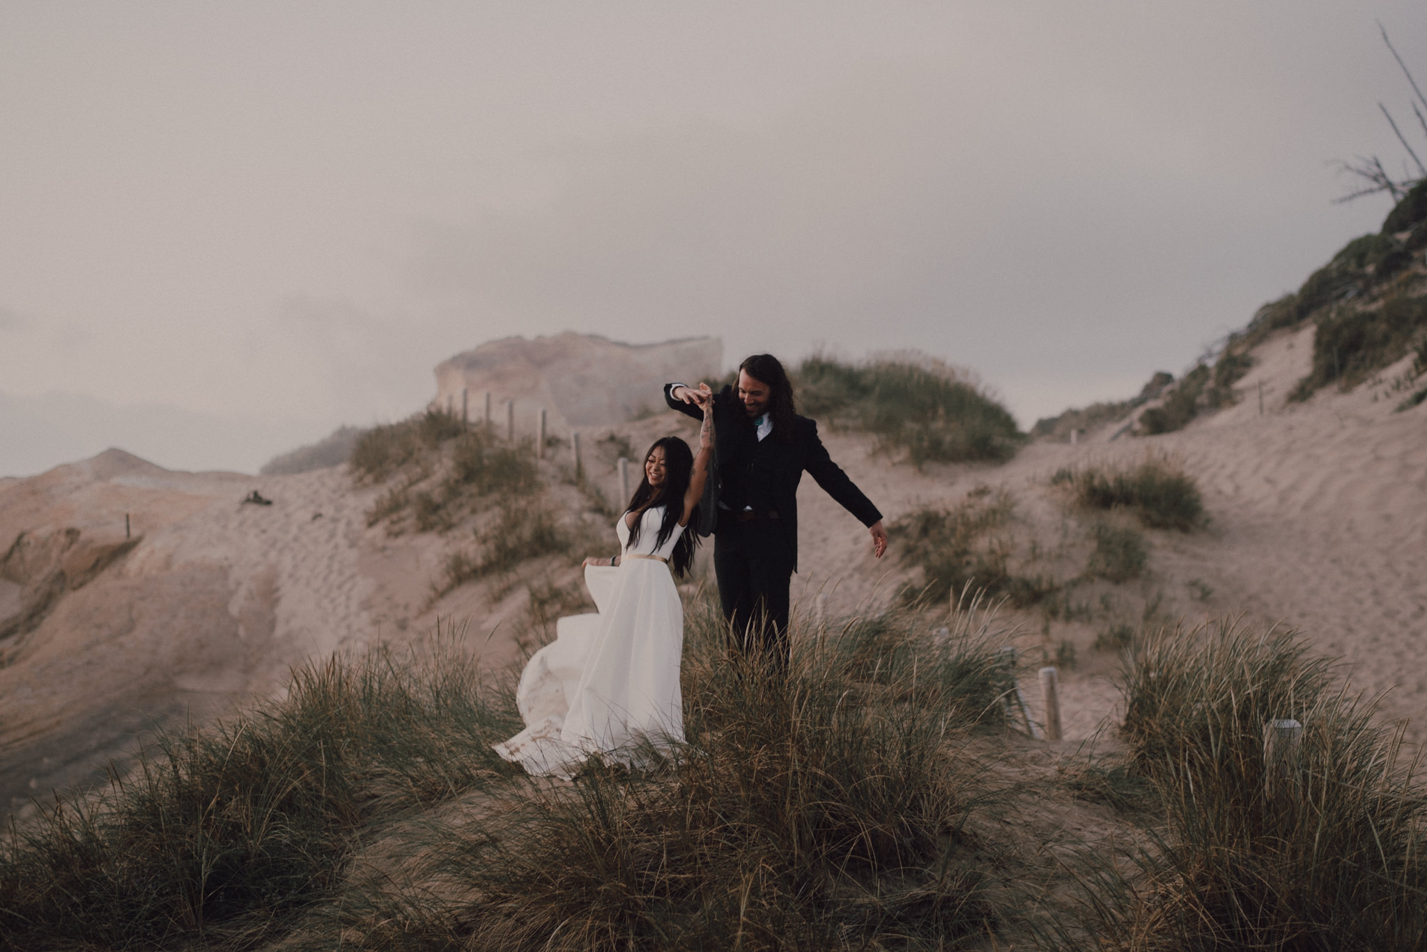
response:
M803 412L866 430L916 465L1009 460L1023 440L1005 407L950 370L811 357L795 377Z

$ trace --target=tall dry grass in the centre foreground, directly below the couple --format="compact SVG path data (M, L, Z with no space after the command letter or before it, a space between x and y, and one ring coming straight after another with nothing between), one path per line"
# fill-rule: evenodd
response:
M685 744L645 768L508 788L440 839L444 895L352 905L381 949L955 949L996 921L965 834L965 736L1002 716L985 628L913 615L802 627L786 677L731 664L689 607Z

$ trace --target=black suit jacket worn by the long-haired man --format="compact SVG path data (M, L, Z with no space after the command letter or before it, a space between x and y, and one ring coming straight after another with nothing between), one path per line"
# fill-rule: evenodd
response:
M702 410L674 398L674 387L675 384L665 385L665 402L682 414L702 420ZM798 571L798 482L803 471L863 525L872 525L882 518L882 514L828 455L822 440L818 438L816 422L808 417L793 417L793 427L791 442L782 442L776 431L763 437L763 442L772 444L765 451L773 455L772 491L773 508L778 511L773 525L788 542L793 571ZM746 462L758 447L758 432L732 387L725 387L722 393L714 395L714 467L704 485L704 501L699 504L696 527L699 535L709 535L716 528L719 498L726 487L742 478Z

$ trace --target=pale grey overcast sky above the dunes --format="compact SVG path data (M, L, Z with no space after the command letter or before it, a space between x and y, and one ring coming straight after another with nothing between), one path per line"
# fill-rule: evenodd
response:
M565 330L1124 397L1381 224L1374 20L1427 80L1420 0L6 0L0 474L255 471Z

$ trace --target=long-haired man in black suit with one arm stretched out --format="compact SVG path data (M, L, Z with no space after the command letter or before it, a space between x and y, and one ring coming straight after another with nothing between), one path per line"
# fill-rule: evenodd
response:
M674 410L702 420L714 401L714 471L699 507L699 535L714 534L714 571L723 617L739 648L788 659L788 588L798 571L798 481L806 470L868 527L878 558L888 548L882 514L832 461L818 424L793 412L793 388L771 354L738 368L738 385L714 394L666 384Z

